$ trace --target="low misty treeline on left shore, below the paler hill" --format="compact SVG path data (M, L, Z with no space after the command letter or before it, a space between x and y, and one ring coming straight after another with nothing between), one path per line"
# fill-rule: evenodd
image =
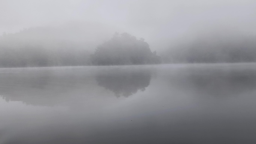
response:
M0 45L0 67L51 67L89 65L89 53L76 47L45 48L35 45Z

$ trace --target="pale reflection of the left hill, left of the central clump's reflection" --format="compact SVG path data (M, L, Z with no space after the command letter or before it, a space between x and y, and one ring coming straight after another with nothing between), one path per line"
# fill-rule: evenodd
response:
M67 105L89 97L97 86L91 73L85 68L9 69L0 75L0 94L7 102Z

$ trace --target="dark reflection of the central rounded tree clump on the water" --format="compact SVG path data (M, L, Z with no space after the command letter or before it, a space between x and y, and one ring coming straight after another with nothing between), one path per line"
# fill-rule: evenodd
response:
M117 97L128 97L138 90L144 91L150 79L150 70L136 68L113 68L101 71L96 76L98 85L113 91Z

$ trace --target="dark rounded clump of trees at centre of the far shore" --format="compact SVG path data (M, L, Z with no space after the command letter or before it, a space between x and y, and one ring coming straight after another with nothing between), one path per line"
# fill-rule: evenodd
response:
M99 45L91 56L95 65L158 64L160 57L152 53L144 39L128 33L115 33L112 39Z

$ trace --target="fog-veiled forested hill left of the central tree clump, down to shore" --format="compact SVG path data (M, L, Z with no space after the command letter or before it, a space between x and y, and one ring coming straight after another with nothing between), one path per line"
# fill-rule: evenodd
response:
M97 45L115 31L98 23L70 22L4 33L0 36L0 67L89 65Z

